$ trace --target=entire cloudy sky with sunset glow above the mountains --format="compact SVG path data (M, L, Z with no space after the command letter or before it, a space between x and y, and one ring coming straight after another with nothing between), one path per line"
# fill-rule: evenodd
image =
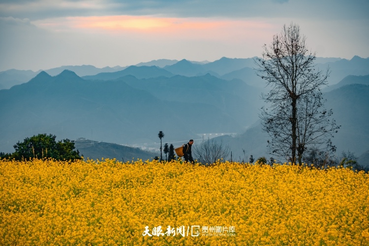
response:
M317 57L369 57L369 0L0 0L0 71L261 56L284 24Z

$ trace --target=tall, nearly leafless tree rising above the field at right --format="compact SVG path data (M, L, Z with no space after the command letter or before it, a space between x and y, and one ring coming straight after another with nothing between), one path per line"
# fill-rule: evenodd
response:
M260 114L263 130L272 138L271 154L300 164L309 148L335 152L331 138L339 128L329 119L332 110L324 109L320 89L327 84L329 68L315 69L315 53L307 50L305 40L298 25L284 25L269 48L264 45L262 58L255 60L257 75L271 87L262 94L268 107Z

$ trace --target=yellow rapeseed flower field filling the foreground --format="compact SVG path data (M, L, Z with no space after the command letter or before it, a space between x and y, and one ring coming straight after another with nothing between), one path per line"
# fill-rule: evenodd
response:
M369 245L369 174L0 161L0 245Z

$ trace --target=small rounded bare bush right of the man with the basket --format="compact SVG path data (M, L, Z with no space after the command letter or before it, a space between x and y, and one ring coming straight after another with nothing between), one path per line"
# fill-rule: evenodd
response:
M204 164L211 165L217 160L225 160L229 155L229 146L223 146L223 142L216 142L215 139L207 139L202 141L201 144L196 145L194 150L195 159Z

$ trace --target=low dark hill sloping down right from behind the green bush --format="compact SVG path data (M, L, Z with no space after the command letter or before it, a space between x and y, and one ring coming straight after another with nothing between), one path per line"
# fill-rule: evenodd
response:
M77 139L74 141L75 149L79 151L84 159L88 158L96 160L101 158L116 158L119 161L131 161L132 159L152 160L158 154L143 151L139 148L132 148L119 144L96 142L89 139Z

